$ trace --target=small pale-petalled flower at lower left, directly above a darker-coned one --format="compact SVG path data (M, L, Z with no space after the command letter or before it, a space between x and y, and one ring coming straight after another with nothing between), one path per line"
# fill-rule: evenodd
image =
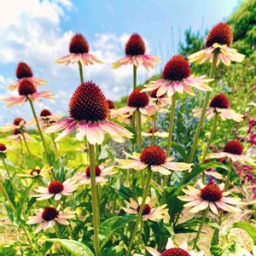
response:
M47 188L40 186L38 189L34 189L39 194L33 196L37 197L38 201L52 197L54 197L55 200L60 200L62 195L71 195L73 191L78 189L78 186L78 183L70 178L68 178L64 183L61 183L59 180L53 180L48 184Z

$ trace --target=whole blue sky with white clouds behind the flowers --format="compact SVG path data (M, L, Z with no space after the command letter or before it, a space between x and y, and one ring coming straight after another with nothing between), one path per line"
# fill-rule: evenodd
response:
M126 39L140 33L149 54L160 55L164 65L177 53L177 44L189 27L205 32L219 21L227 20L239 0L0 0L0 98L15 95L7 85L15 81L15 67L26 61L34 76L46 79L45 90L55 93L55 101L37 102L37 111L49 108L67 113L70 95L79 84L77 65L61 66L55 59L67 55L74 32L81 32L91 52L103 65L84 68L84 79L99 84L105 95L118 100L131 89L129 67L112 70L110 63L124 55ZM139 69L138 80L150 73ZM41 88L39 89L41 90ZM0 102L0 125L15 117L31 119L28 106L5 108Z

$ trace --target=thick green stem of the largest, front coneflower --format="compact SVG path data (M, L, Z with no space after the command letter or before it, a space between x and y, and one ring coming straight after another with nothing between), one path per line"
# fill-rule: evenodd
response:
M92 214L93 214L93 229L94 229L94 250L96 256L100 255L99 249L99 217L98 217L98 199L96 189L96 160L95 160L95 147L89 144L90 154L90 187L91 187L91 199L92 199Z

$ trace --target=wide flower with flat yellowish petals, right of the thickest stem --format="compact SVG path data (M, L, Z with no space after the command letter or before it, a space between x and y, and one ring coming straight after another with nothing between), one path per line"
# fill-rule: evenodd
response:
M133 153L125 155L131 159L117 159L121 169L143 170L150 166L151 171L160 172L163 175L169 175L171 171L189 170L192 164L183 162L172 162L172 157L166 157L166 152L158 146L148 146L143 149L141 154Z

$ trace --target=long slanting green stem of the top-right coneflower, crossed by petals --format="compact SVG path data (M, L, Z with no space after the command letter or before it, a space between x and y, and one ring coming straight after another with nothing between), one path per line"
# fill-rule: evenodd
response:
M218 53L214 53L213 60L212 60L211 72L210 72L210 79L214 78L215 70L216 70L216 66L217 66L217 60L218 60ZM201 126L203 124L205 115L207 113L207 105L208 105L208 102L209 102L209 99L210 99L210 94L211 94L211 91L210 90L207 91L206 96L205 96L205 100L204 100L204 104L203 104L203 108L202 108L202 111L201 111L201 117L200 117L199 122L198 122L197 127L196 127L194 142L192 144L191 151L190 151L190 154L189 154L189 163L191 163L191 161L194 158L195 148L197 146L198 139L200 137Z

